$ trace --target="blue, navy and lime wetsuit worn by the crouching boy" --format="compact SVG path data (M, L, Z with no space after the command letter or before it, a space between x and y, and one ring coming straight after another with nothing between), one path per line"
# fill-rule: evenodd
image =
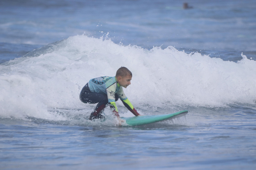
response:
M107 104L113 109L113 113L119 117L116 101L121 99L124 106L135 116L138 112L134 109L131 102L124 94L123 87L117 83L115 77L98 77L91 79L81 90L80 100L83 103L98 103L94 111L91 113L90 119L101 118L101 113Z

